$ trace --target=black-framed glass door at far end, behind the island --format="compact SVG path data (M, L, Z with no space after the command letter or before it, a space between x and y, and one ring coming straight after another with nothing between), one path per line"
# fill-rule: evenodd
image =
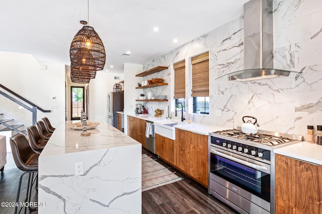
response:
M85 106L85 87L83 86L71 86L70 87L70 119L80 120L82 111L85 113L87 108Z

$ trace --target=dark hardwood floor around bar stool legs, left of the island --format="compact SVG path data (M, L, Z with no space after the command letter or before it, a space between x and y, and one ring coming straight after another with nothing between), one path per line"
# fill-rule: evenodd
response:
M7 164L5 165L5 170L0 173L0 202L16 202L18 184L20 175L23 173L20 169L17 168L12 152L7 152ZM28 175L24 175L23 183L21 186L20 199L19 201L23 202L26 197L26 189L28 184ZM32 190L31 201L37 201L37 192L35 188ZM7 204L8 205L8 204ZM18 206L20 208L20 206ZM19 210L19 209L18 209ZM0 206L0 213L14 213L15 207L13 206ZM24 209L21 211L24 213ZM37 210L28 210L27 213L36 214Z

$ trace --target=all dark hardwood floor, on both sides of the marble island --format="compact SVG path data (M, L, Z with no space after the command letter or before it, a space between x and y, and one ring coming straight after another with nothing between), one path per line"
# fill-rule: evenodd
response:
M148 150L142 149L142 154L157 158L156 155ZM158 159L157 162L168 167L169 165ZM208 194L206 187L189 178L179 170L171 167L170 170L184 179L175 183L159 186L142 192L142 213L237 213L214 196ZM5 171L0 175L0 202L15 202L18 190L20 175L23 171L19 170L13 160L12 153L7 153L7 164ZM26 194L27 176L24 177L21 198ZM22 201L23 199L20 199ZM37 193L33 190L31 201L37 201ZM15 207L0 207L0 214L14 213ZM23 213L23 212L22 212ZM36 214L37 210L27 213Z

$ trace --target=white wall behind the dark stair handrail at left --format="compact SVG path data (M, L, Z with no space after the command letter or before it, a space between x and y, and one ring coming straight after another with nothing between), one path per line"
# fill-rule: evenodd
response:
M0 65L0 84L44 110L51 110L50 113L38 110L37 120L48 117L53 126L65 120L65 65L42 63L47 69L39 69L40 64L31 55L9 52L0 52ZM5 111L14 114L19 109L11 105ZM32 118L22 120L32 124Z

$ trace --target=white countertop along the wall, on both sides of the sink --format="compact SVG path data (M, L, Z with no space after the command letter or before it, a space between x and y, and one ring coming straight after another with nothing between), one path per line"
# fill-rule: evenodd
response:
M151 116L148 114L138 114L138 115L128 114L128 115L132 116L132 117L137 117L140 119L148 120L151 122L155 122L158 120L167 120L166 118L154 117L154 116ZM194 122L188 123L188 124L178 124L178 125L174 125L173 127L179 128L182 130L186 130L186 131L191 131L191 132L194 132L197 134L203 134L203 135L209 135L209 133L214 132L214 131L231 129L231 128L222 127L222 126L216 126L216 125L204 124L204 123L194 123Z

